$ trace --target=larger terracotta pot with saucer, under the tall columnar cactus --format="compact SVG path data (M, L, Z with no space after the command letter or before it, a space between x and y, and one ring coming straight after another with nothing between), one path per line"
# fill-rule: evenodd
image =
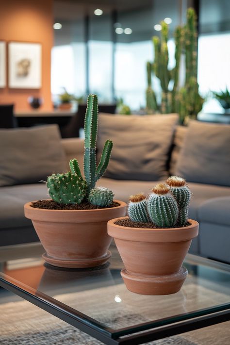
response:
M126 213L126 203L97 210L44 210L24 205L25 216L32 220L46 253L47 263L58 267L95 267L111 257L112 238L107 222Z

